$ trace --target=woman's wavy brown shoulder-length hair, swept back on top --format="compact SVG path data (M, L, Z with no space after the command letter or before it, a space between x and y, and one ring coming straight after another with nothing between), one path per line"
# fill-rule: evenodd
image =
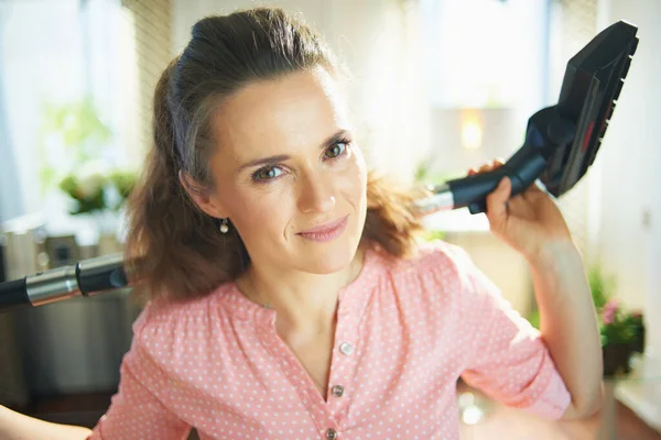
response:
M188 45L156 86L153 147L128 204L124 260L143 299L202 296L246 270L249 258L236 229L219 233L218 220L196 207L178 172L199 183L198 190L210 187L209 114L223 97L250 81L317 65L339 68L321 37L280 9L208 16L193 26ZM369 173L362 242L409 255L421 230L408 208L414 197Z

